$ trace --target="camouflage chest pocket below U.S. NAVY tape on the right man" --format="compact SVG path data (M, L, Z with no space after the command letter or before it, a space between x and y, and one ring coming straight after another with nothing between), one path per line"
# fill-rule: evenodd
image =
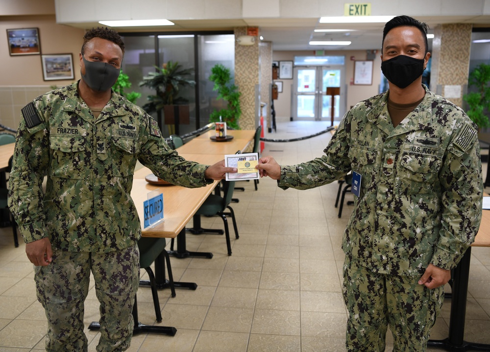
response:
M398 169L400 193L432 193L440 168L441 159L437 156L404 152Z

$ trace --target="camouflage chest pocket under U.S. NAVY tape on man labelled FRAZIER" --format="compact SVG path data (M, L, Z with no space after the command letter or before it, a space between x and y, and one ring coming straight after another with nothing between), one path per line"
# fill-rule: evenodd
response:
M140 143L131 138L113 137L112 138L112 171L116 177L133 175Z

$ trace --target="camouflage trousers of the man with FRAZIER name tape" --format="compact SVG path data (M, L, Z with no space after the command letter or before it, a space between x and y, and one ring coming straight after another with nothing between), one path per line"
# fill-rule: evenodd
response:
M87 351L84 301L90 272L100 302L99 352L125 351L133 333L139 284L138 245L109 253L53 251L52 263L35 266L37 298L48 318L46 351Z

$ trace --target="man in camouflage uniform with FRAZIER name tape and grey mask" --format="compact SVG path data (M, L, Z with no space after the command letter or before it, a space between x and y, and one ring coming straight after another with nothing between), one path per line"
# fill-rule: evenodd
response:
M184 160L165 143L155 120L111 90L123 51L117 32L87 32L82 79L22 109L9 207L35 265L50 352L87 351L83 303L90 272L100 302L97 351L129 347L139 283L141 225L130 197L137 160L184 187L205 186L236 172L224 162L208 167Z

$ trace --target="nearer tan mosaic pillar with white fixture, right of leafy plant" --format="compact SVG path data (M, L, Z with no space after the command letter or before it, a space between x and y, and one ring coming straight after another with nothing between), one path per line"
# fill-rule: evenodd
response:
M234 29L235 38L246 35L246 27ZM242 130L255 130L255 86L259 84L259 39L253 45L235 42L235 85L242 93L239 125Z

